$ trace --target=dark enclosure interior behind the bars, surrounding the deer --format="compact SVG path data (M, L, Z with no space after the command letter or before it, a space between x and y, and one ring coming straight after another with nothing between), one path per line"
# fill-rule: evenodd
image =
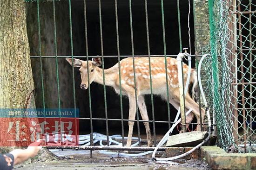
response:
M85 20L84 20L84 2L83 0L72 0L72 33L73 33L73 50L74 56L86 56L86 44L85 44ZM179 43L179 29L178 29L178 13L177 13L177 2L175 0L164 1L164 21L165 21L165 38L166 38L166 52L168 55L177 55L180 51ZM191 52L194 54L194 22L193 22L193 6L192 0L191 13L190 13L190 35L191 35ZM130 31L130 20L129 20L129 1L118 0L118 26L119 26L119 42L120 42L120 53L123 56L132 55L131 49L131 31ZM44 8L50 8L50 12L44 13ZM30 14L36 9L36 3L30 3L27 7L27 18L33 17ZM56 29L57 29L57 49L58 56L71 56L70 49L70 32L69 32L69 14L68 14L68 2L67 1L56 1ZM181 15L181 37L182 37L182 48L189 47L189 35L188 35L188 13L189 6L187 0L180 0L180 15ZM52 2L40 2L40 22L41 25L47 23L47 19L53 19L52 13ZM88 27L88 55L101 56L101 37L100 37L100 22L99 22L99 4L96 0L86 1L87 10L87 27ZM48 16L49 15L49 16ZM32 32L29 36L31 56L38 56L38 36L37 34L37 20L36 14L34 21L28 20L28 32ZM62 17L62 19L58 19ZM117 44L116 44L116 25L115 25L115 1L114 0L101 0L101 17L102 17L102 35L103 35L103 54L104 56L116 56L117 55ZM145 1L144 0L133 0L132 1L132 23L133 23L133 39L134 39L134 51L135 56L148 55L147 47L147 34L146 34L146 20L145 20ZM31 31L31 25L34 22L34 32ZM51 22L53 23L53 22ZM30 25L31 24L31 25ZM148 27L149 27L149 40L150 40L150 53L151 55L163 55L163 32L162 32L162 13L161 13L161 1L148 0ZM54 49L54 38L53 38L54 25L41 26L41 39L44 43L44 39L47 39L47 33L50 32L52 38L45 40L45 43L49 43L49 49ZM66 30L62 33L62 30ZM46 33L44 33L46 32ZM35 38L33 38L33 36ZM65 38L66 36L66 38ZM67 47L64 49L66 43ZM45 50L42 55L54 56L54 50ZM42 49L43 50L43 49ZM85 60L85 58L80 58ZM54 63L54 58L42 58L42 61L49 60L49 63ZM110 68L117 63L117 58L104 59L105 68ZM39 58L32 58L32 63L38 64ZM64 58L58 58L59 63L59 77L60 77L60 97L61 97L61 108L73 108L73 83L72 83L72 67L65 61ZM186 63L186 62L185 62ZM195 63L192 62L192 67ZM38 66L38 65L37 65ZM62 66L62 67L61 67ZM43 74L44 83L52 81L52 86L56 86L56 73L55 66L52 71L47 72L47 65L43 63ZM35 81L35 94L36 94L36 105L38 108L42 107L41 102L41 85L40 76L38 76L39 67L33 67L34 81ZM67 71L68 70L68 71ZM67 71L67 73L65 72ZM52 74L53 77L49 74ZM64 81L66 80L66 81ZM75 99L76 107L80 109L81 118L89 118L89 103L88 103L88 90L80 89L80 73L78 69L74 70L75 80ZM57 92L56 90L50 90L51 85L45 85L44 93L48 97L46 100L46 107L58 107L57 104ZM55 89L55 88L54 88ZM120 97L115 94L114 90L106 87L107 97L107 112L109 119L121 119L120 113ZM53 94L54 93L54 94ZM103 86L92 83L91 84L91 101L92 101L92 115L93 118L105 118L105 106L104 106L104 95ZM46 97L47 98L47 97ZM52 101L52 102L50 102ZM124 119L128 119L128 99L123 97L123 113ZM152 120L152 107L150 95L146 96L146 105L148 109L149 119ZM159 97L154 96L154 108L155 108L155 120L168 121L167 103L162 101ZM170 105L171 121L175 119L176 110ZM141 117L140 117L141 120ZM145 130L143 123L140 123L141 133L144 134ZM152 124L150 125L151 128ZM80 120L80 133L90 132L89 120ZM128 123L124 123L125 133L127 133ZM105 120L94 120L93 130L94 132L106 133L106 121ZM121 134L121 122L120 121L108 121L109 133ZM168 124L156 123L156 134L165 133L168 130ZM152 131L152 130L151 130ZM134 133L136 134L136 123Z

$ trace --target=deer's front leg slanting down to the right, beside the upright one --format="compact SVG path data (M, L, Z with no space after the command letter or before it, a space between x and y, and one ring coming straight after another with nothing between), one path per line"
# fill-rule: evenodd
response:
M146 104L145 104L144 97L142 95L138 97L138 107L140 109L142 120L148 120L147 107L146 107ZM151 143L151 133L150 133L149 123L148 122L143 122L143 124L146 128L148 146L151 146L152 143Z

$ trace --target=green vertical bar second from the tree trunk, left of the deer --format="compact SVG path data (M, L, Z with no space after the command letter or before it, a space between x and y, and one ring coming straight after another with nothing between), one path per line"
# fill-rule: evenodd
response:
M58 56L57 56L58 52L57 52L57 36L56 36L55 0L53 0L53 16L54 16L54 53L55 53L55 63L56 63L58 108L59 108L59 112L60 112L61 111L61 101L60 101L60 83L59 83ZM61 122L61 114L60 114L60 122ZM63 132L62 126L61 126L61 132ZM62 138L61 138L61 145L63 145L63 139Z

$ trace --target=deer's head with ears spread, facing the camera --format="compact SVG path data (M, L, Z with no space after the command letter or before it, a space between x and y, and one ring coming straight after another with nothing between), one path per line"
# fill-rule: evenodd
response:
M72 65L72 58L66 58L66 60L70 65ZM81 74L81 85L80 85L81 89L85 90L89 86L88 73L89 73L89 83L91 84L94 81L96 77L95 68L98 66L101 66L100 57L94 57L92 61L83 61L83 60L74 58L74 67L80 67L79 71Z

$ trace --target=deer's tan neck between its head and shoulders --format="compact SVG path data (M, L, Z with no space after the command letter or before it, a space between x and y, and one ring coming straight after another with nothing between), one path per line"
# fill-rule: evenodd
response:
M94 82L97 82L103 85L103 69L96 67L95 71L97 75L96 75L96 78L94 79ZM115 78L117 73L118 73L118 68L116 67L116 65L109 69L104 69L106 86L115 86Z

